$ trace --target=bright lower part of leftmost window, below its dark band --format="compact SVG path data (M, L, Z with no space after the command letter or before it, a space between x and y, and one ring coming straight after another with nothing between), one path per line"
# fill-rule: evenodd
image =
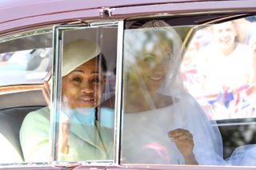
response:
M42 82L50 71L52 49L28 49L0 55L0 85Z

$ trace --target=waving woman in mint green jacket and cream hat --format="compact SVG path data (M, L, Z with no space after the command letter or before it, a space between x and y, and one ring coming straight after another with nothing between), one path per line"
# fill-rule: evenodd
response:
M110 159L113 120L107 119L113 113L100 108L106 82L104 73L106 61L94 42L81 39L64 45L61 111L64 114L60 115L58 160ZM44 94L49 102L47 84ZM26 116L20 131L26 161L50 160L49 128L48 107Z

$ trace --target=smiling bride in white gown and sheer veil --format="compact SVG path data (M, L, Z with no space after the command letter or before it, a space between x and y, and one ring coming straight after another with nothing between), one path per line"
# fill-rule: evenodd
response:
M218 129L183 89L181 44L163 21L125 32L123 163L222 164Z

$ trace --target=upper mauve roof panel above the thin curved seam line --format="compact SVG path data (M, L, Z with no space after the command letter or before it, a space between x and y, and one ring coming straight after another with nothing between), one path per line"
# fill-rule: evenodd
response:
M164 2L182 2L184 0L2 0L0 2L0 23L34 15L62 13L72 10L90 10L101 7L136 6ZM194 2L190 0L186 2ZM185 2L185 1L184 1Z

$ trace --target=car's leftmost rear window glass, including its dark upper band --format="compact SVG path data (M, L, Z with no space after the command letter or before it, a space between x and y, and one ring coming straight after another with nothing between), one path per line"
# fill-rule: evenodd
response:
M0 48L0 85L42 82L51 68L51 34L35 31L16 37L9 41L2 38L5 42Z

